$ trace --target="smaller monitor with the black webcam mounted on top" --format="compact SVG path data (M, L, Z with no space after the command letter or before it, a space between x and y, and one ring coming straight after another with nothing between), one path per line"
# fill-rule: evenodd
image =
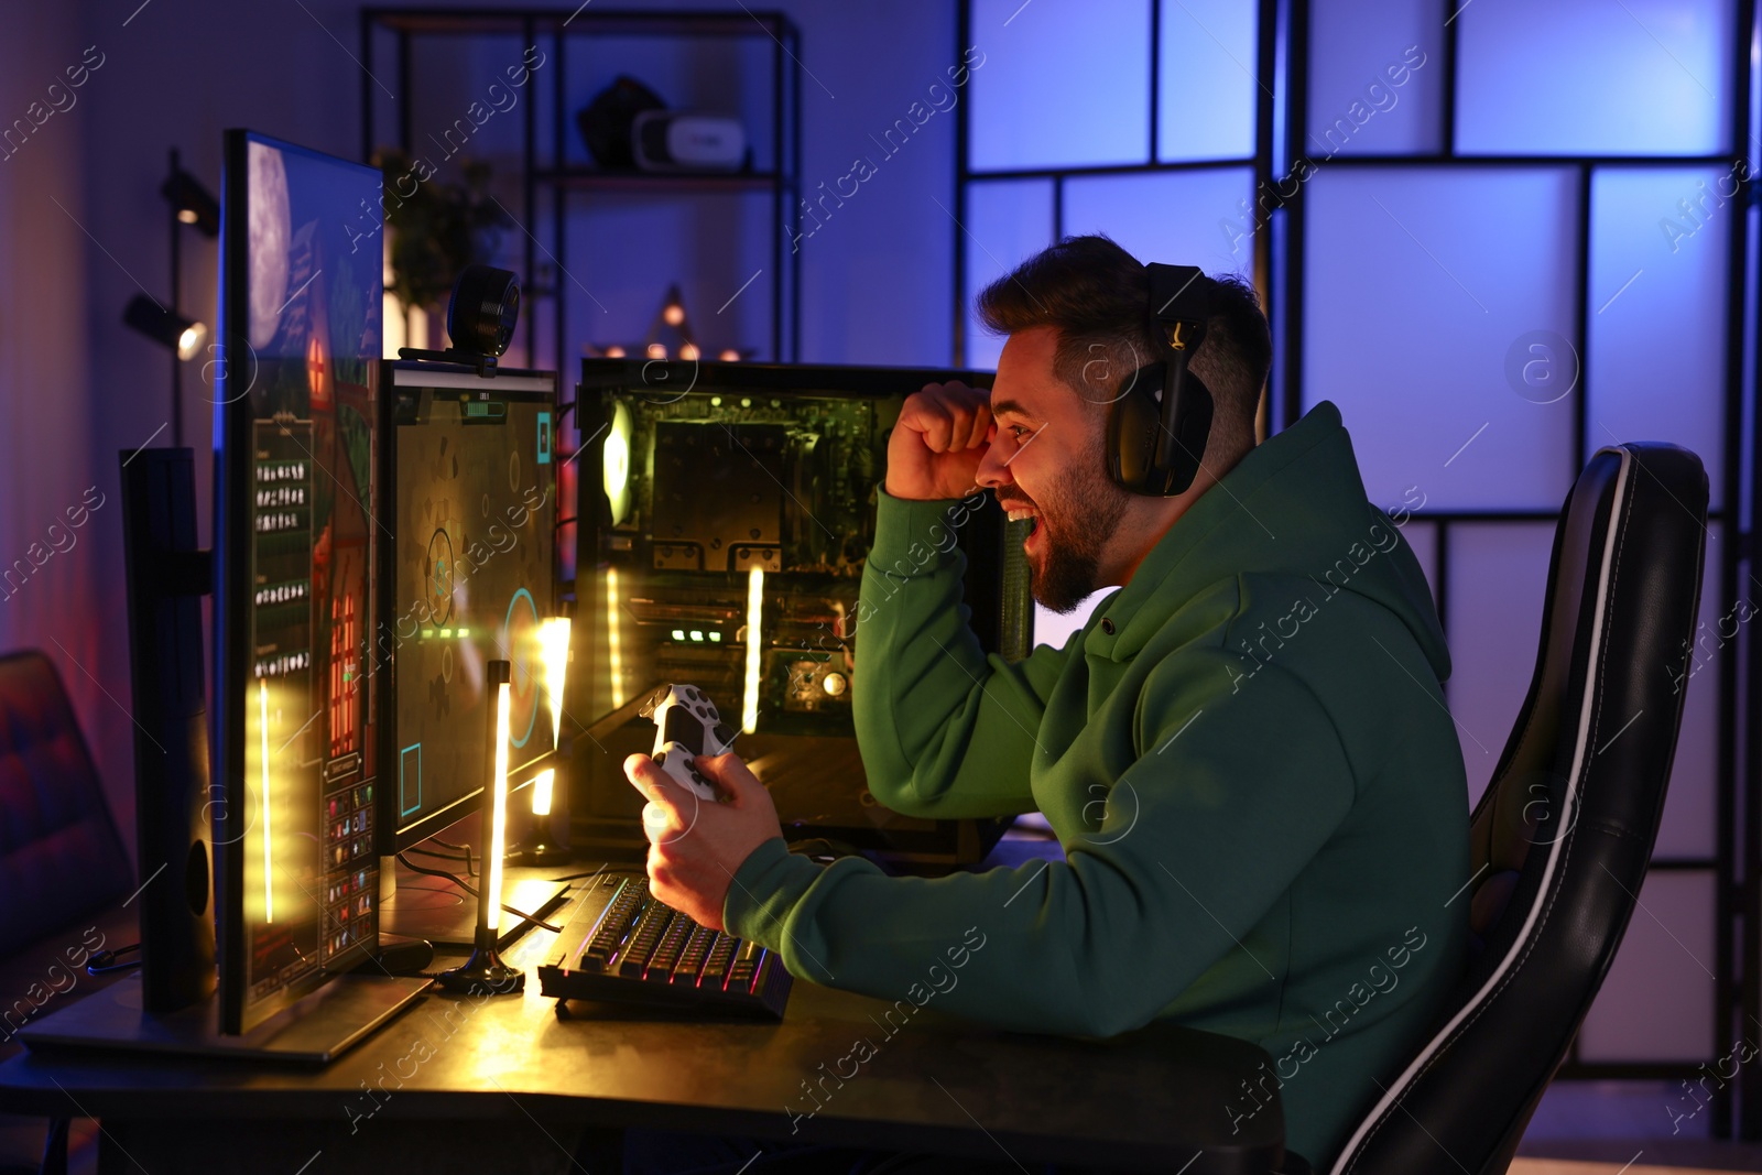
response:
M553 747L539 625L557 615L557 377L386 363L379 853L472 812L485 786L485 668L513 662L509 786Z

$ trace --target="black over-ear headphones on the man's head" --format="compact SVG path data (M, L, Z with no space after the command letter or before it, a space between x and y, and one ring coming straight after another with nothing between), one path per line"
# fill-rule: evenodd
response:
M1212 395L1188 361L1205 342L1212 280L1198 266L1145 270L1149 326L1163 354L1128 375L1108 409L1107 472L1124 490L1166 499L1193 484L1210 435Z

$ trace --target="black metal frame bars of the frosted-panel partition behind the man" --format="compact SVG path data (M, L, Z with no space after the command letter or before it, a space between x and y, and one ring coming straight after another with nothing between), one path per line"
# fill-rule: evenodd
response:
M962 0L957 16L955 60L973 33L973 2ZM960 236L953 248L953 361L966 359L966 236L967 192L973 183L994 180L1048 180L1054 185L1052 227L1062 234L1062 192L1071 178L1103 174L1166 174L1195 167L1253 166L1255 201L1262 192L1288 187L1299 162L1314 164L1293 148L1307 144L1309 118L1309 0L1258 0L1256 28L1256 113L1255 155L1251 159L1158 162L1158 79L1161 74L1159 19L1161 2L1149 2L1149 127L1151 148L1145 164L1117 164L1105 167L1025 167L974 169L971 166L973 127L971 104L966 104L955 134L955 190L953 208ZM1730 78L1730 136L1725 153L1695 155L1462 155L1457 151L1457 58L1459 26L1455 18L1468 7L1461 0L1422 0L1436 4L1443 12L1441 48L1441 109L1438 151L1387 155L1332 155L1329 167L1336 169L1410 169L1410 167L1524 167L1572 169L1577 173L1577 326L1570 340L1577 351L1579 382L1573 389L1573 437L1570 446L1570 477L1575 479L1589 454L1600 447L1588 437L1588 361L1589 361L1589 264L1591 264L1591 185L1602 167L1693 167L1725 166L1741 155L1737 150L1753 132L1751 90L1757 69L1751 65L1751 42L1757 33L1757 0L1737 0L1729 46ZM1283 62L1283 70L1281 63ZM1270 85L1269 85L1270 83ZM1286 159L1276 159L1276 122L1284 120ZM1720 507L1709 511L1709 525L1721 527L1720 565L1706 574L1718 576L1721 615L1729 615L1746 587L1762 588L1755 573L1755 520L1762 516L1762 477L1757 477L1757 454L1762 453L1762 412L1757 410L1758 358L1746 347L1753 328L1762 336L1762 298L1746 266L1755 264L1757 241L1751 240L1746 208L1757 201L1757 180L1746 183L1750 199L1730 201L1730 247L1725 273L1725 358L1723 358L1723 477L1718 490ZM1304 410L1302 356L1304 356L1304 270L1307 252L1306 224L1307 187L1299 183L1297 196L1277 201L1274 211L1253 236L1253 280L1260 291L1267 319L1274 333L1274 372L1262 396L1262 435L1293 425ZM1448 631L1450 620L1450 548L1452 527L1462 525L1522 525L1554 523L1558 509L1420 509L1413 518L1434 528L1434 595L1438 618ZM1762 639L1748 629L1727 645L1720 657L1718 682L1718 768L1714 780L1714 853L1713 856L1655 856L1651 867L1660 872L1692 872L1714 881L1714 942L1713 974L1713 1041L1723 1050L1744 1039L1743 1029L1755 1031L1751 1039L1762 1041L1762 812L1746 802L1762 780L1762 738L1746 738L1741 715L1762 696ZM1744 786L1739 787L1739 772ZM1697 960L1700 962L1700 960ZM1706 967L1704 967L1706 969ZM1709 1059L1713 1060L1713 1059ZM1716 1064L1716 1060L1714 1060ZM1630 1060L1600 1062L1579 1055L1573 1041L1563 1078L1598 1080L1697 1080L1707 1076L1707 1062ZM1741 1092L1721 1083L1713 1090L1714 1136L1762 1138L1762 1057L1744 1066L1739 1076ZM1741 1113L1739 1113L1741 1110Z

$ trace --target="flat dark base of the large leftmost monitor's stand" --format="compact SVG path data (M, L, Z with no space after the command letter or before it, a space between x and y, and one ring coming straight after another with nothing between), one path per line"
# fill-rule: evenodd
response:
M241 1036L220 1032L220 997L169 1015L144 1009L139 972L18 1031L30 1048L104 1048L326 1064L416 1002L421 976L344 974Z

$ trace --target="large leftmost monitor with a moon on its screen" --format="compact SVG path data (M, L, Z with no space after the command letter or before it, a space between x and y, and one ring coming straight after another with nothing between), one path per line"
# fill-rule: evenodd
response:
M215 389L220 1027L377 948L381 174L226 136Z

